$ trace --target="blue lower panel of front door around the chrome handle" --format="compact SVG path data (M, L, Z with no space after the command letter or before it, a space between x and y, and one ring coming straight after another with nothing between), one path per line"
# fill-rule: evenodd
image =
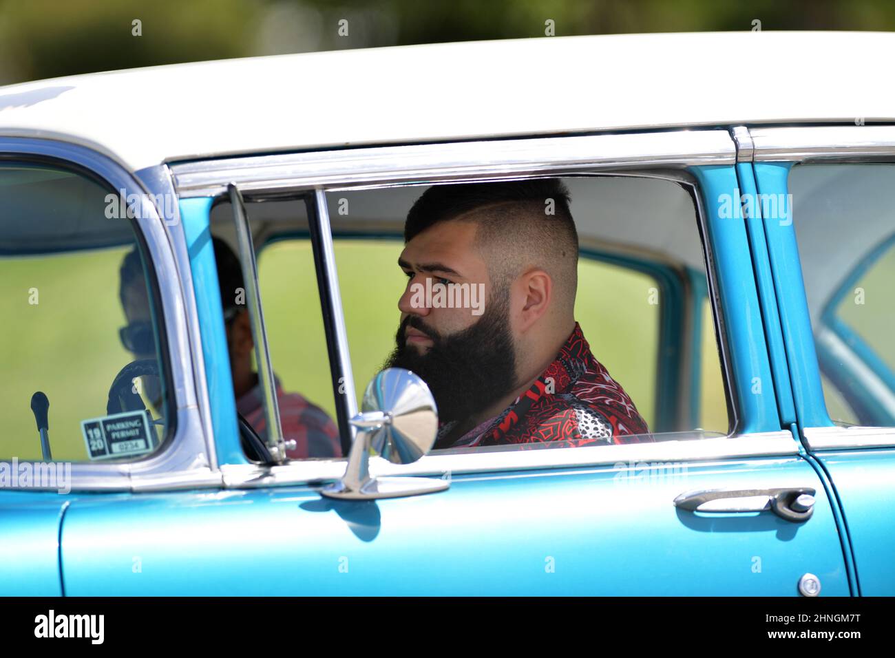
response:
M737 439L747 440L747 439ZM617 465L622 466L622 465ZM334 501L307 487L98 495L66 514L66 594L848 595L839 538L799 457L456 476ZM695 515L691 489L814 486L814 517Z

